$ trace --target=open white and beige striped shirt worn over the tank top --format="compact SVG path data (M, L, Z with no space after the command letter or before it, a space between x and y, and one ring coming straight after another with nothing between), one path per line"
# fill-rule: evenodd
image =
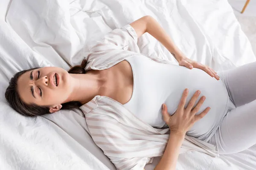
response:
M128 57L140 54L133 27L114 29L90 46L85 70L104 70ZM168 60L149 57L155 62ZM95 96L82 105L93 141L118 170L143 170L156 156L162 156L169 140L169 128L157 129L138 119L121 103L108 96ZM180 153L197 150L215 157L215 146L192 136L185 136Z

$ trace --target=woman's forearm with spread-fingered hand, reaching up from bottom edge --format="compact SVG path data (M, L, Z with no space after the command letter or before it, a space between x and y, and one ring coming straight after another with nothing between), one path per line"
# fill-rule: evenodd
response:
M167 106L163 104L163 120L170 128L170 136L163 157L155 167L155 170L175 170L179 149L185 138L186 132L191 129L195 122L197 122L199 119L202 119L210 110L207 108L202 113L195 115L201 108L205 99L204 96L202 96L198 103L195 105L195 102L200 94L197 92L200 91L196 91L196 93L189 101L187 107L184 108L186 98L188 96L188 89L185 89L180 99L177 111L172 116L167 113ZM195 108L193 108L194 105Z

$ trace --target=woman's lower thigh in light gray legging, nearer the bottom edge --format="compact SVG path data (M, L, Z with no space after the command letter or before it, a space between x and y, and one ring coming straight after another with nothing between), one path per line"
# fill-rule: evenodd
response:
M219 154L238 153L256 144L256 100L229 111L209 143Z

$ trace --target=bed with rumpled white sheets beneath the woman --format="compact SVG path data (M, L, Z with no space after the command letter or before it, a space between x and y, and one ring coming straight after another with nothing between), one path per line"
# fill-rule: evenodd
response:
M67 70L87 56L91 41L144 15L154 17L187 57L215 71L256 61L227 0L1 0L1 170L115 170L79 109L27 118L9 107L4 92L15 72L38 66ZM178 64L149 34L138 45L145 55ZM177 162L177 170L255 168L256 145L219 158L191 151Z

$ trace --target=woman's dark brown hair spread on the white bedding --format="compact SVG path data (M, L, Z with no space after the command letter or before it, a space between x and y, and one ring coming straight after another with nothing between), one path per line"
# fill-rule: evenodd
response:
M85 74L85 66L87 64L86 59L84 58L83 61L81 62L81 65L76 65L68 71L68 73L71 74ZM26 104L20 99L20 95L18 94L17 91L17 80L18 78L26 73L27 71L32 71L37 68L31 68L28 70L23 70L20 72L17 72L12 79L9 82L9 86L6 89L5 92L5 97L7 102L11 105L12 108L15 109L18 113L24 115L24 116L41 116L44 114L49 114L49 106L38 106L35 104ZM71 109L71 108L79 108L81 106L80 102L77 101L72 101L72 102L67 102L61 104L62 108L61 109Z

